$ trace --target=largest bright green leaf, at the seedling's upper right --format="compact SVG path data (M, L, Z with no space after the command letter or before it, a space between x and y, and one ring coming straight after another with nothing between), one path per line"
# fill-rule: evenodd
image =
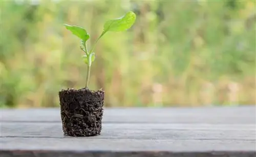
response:
M127 12L124 16L106 21L103 32L125 31L133 26L136 20L136 14L132 11Z

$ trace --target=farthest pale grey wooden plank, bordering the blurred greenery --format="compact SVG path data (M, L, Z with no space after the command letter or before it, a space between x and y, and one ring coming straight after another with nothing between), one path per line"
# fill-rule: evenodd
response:
M60 122L59 108L2 109L1 121ZM195 108L105 108L103 123L255 124L255 106Z

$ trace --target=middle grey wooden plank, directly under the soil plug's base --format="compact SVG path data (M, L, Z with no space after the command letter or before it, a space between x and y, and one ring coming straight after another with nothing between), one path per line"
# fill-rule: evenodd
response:
M255 125L238 125L237 128L230 126L222 129L179 129L165 124L104 124L100 136L88 139L142 139L142 140L255 140ZM239 129L247 128L245 129ZM1 137L20 138L62 138L63 133L60 123L2 123ZM210 128L218 127L211 125ZM193 131L192 131L193 130Z

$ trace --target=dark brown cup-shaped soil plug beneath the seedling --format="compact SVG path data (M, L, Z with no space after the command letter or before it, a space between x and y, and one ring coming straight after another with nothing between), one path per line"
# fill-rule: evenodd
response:
M104 91L62 89L59 91L59 101L65 136L87 137L101 133Z

